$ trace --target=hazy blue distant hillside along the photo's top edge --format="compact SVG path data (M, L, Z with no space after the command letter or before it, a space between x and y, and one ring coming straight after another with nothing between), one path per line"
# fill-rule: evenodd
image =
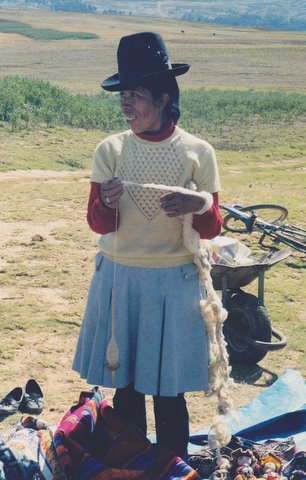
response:
M175 18L264 29L306 30L304 0L0 0L0 6Z

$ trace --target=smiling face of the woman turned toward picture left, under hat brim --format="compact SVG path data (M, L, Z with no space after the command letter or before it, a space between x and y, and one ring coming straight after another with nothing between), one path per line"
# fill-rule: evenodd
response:
M155 100L143 87L120 92L121 112L134 133L158 132L163 125L163 111L168 101L168 94L163 93Z

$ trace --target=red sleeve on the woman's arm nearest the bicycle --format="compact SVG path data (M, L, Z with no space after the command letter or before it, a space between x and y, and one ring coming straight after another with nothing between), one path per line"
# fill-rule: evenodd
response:
M212 207L202 215L193 215L193 228L200 234L201 238L210 240L221 232L223 223L219 208L218 193L212 194L214 203Z

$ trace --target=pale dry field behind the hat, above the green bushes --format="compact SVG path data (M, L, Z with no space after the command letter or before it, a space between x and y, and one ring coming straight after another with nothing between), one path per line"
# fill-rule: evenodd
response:
M96 93L116 72L115 51L122 35L160 32L172 61L191 64L182 88L238 88L306 91L303 32L220 27L158 18L0 10L0 18L34 28L86 31L97 40L34 41L0 34L0 76L22 74L50 80L74 92Z

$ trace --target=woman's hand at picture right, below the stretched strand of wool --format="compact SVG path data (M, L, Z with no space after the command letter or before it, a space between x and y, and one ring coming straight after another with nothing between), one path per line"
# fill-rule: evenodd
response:
M205 200L198 192L187 188L181 188L179 192L169 192L160 197L160 206L168 217L198 212L204 204Z

